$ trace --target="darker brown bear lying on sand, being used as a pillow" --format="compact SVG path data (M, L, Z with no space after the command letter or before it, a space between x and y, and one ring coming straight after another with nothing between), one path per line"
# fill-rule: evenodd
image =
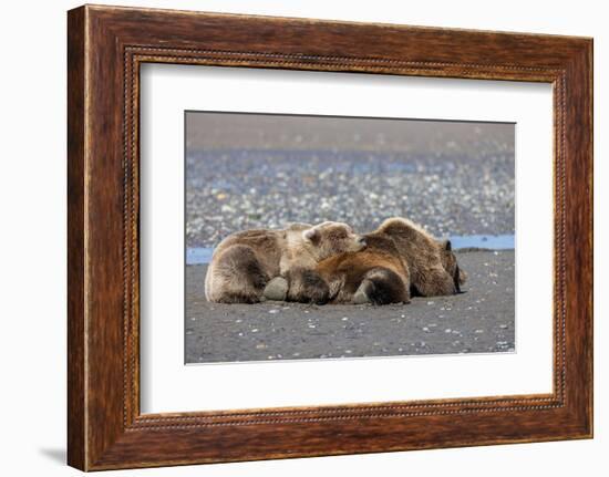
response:
M411 294L457 293L465 282L450 241L437 241L407 219L388 219L364 238L365 250L317 266L332 303L407 303Z

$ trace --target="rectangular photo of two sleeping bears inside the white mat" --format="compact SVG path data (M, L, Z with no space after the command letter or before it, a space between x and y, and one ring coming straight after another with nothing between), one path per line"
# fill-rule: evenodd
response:
M185 363L514 353L514 123L185 112Z

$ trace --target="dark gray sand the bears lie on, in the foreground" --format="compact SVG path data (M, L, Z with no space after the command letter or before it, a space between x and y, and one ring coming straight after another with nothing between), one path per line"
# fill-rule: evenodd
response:
M457 258L464 293L384 307L209 303L187 266L186 363L514 351L514 251Z

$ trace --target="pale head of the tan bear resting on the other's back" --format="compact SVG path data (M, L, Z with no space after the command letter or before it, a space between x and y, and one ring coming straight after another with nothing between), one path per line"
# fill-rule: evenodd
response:
M307 249L317 261L338 253L360 251L365 247L363 236L343 222L326 221L302 231Z

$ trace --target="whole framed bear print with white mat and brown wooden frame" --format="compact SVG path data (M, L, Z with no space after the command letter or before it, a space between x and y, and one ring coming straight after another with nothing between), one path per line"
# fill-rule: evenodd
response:
M592 436L592 41L69 12L69 464Z

